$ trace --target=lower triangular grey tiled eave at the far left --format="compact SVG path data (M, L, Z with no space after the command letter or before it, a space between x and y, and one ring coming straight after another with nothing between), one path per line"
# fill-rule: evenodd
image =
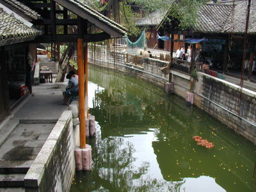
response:
M19 19L0 8L0 46L32 40L41 31L29 28Z

